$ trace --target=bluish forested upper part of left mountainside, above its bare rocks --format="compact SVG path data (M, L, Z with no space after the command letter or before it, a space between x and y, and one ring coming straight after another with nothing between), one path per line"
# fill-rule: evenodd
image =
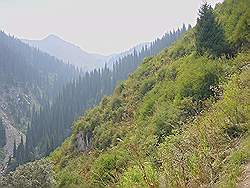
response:
M0 33L0 41L1 85L38 87L53 96L77 72L74 66L65 65L55 57L31 48L4 32Z

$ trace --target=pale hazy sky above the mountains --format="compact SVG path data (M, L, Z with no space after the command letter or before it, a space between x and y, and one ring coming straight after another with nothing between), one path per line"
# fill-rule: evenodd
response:
M0 0L0 30L19 38L55 34L111 54L196 22L202 0ZM207 0L214 5L222 0Z

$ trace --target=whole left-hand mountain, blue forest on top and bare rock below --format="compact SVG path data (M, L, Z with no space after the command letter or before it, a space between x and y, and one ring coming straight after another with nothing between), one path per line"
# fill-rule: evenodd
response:
M18 145L23 136L25 141L32 113L50 103L79 74L72 65L0 32L0 119L6 129L6 138L0 139L6 139L5 162L14 140Z

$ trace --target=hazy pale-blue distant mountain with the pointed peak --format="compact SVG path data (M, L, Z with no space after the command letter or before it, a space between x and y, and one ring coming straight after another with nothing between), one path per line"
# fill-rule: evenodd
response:
M74 66L82 67L84 71L90 71L95 68L101 68L105 65L108 57L91 54L83 51L80 47L66 42L56 35L49 35L42 40L22 40L32 47L39 48L51 56L70 63Z

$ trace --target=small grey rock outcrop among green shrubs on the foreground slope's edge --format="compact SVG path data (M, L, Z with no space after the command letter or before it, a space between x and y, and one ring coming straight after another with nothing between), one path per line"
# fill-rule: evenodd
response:
M84 133L83 131L79 131L76 134L75 147L78 151L86 152L91 148L92 140L92 132L88 131L87 133Z

